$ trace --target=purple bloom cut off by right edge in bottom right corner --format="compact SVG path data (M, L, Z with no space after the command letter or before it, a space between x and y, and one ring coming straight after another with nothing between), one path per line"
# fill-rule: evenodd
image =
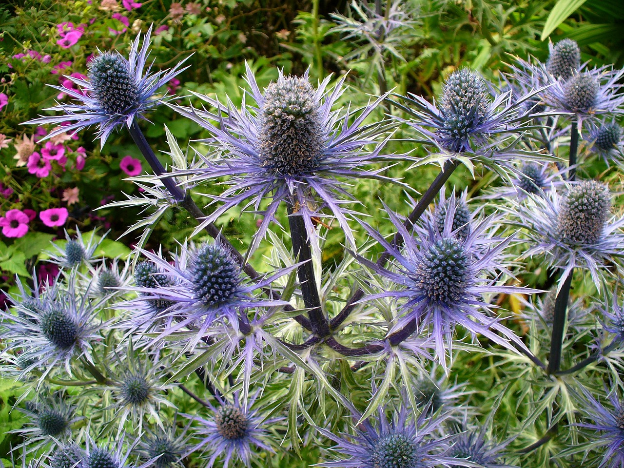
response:
M593 429L600 433L595 444L606 445L602 461L598 468L624 467L624 405L617 392L608 395L612 409L603 406L587 389L581 387L585 401L579 408L584 409L593 419L592 423L579 423L576 426ZM598 434L597 434L598 435Z

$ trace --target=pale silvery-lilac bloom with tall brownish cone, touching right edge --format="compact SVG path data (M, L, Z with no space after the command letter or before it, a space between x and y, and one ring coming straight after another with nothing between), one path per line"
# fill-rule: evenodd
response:
M611 215L611 195L606 185L584 180L562 185L563 195L548 190L543 197L515 203L512 221L525 228L530 248L524 256L545 254L561 280L574 268L589 270L594 283L602 284L602 271L624 257L624 217Z

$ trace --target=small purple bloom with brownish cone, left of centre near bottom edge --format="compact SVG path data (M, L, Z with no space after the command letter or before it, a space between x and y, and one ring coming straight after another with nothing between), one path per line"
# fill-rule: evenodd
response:
M254 447L273 452L266 442L266 430L261 426L276 420L265 421L258 415L258 409L251 409L257 397L256 393L244 404L238 398L238 392L235 392L233 402L221 400L217 406L208 402L214 413L212 419L186 415L201 424L193 429L197 436L203 436L202 441L189 453L207 447L212 452L207 468L212 468L218 458L222 459L223 467L227 468L230 461L236 459L250 466Z

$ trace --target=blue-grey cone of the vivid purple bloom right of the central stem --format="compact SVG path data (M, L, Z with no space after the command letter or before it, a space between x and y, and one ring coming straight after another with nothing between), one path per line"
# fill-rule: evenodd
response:
M414 279L432 303L453 304L464 298L469 259L456 238L433 243L423 256Z

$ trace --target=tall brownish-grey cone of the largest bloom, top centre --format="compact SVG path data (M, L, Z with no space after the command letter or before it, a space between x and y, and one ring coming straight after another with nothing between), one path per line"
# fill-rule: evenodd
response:
M318 98L307 78L283 77L265 90L260 119L260 159L275 175L310 172L323 155Z

